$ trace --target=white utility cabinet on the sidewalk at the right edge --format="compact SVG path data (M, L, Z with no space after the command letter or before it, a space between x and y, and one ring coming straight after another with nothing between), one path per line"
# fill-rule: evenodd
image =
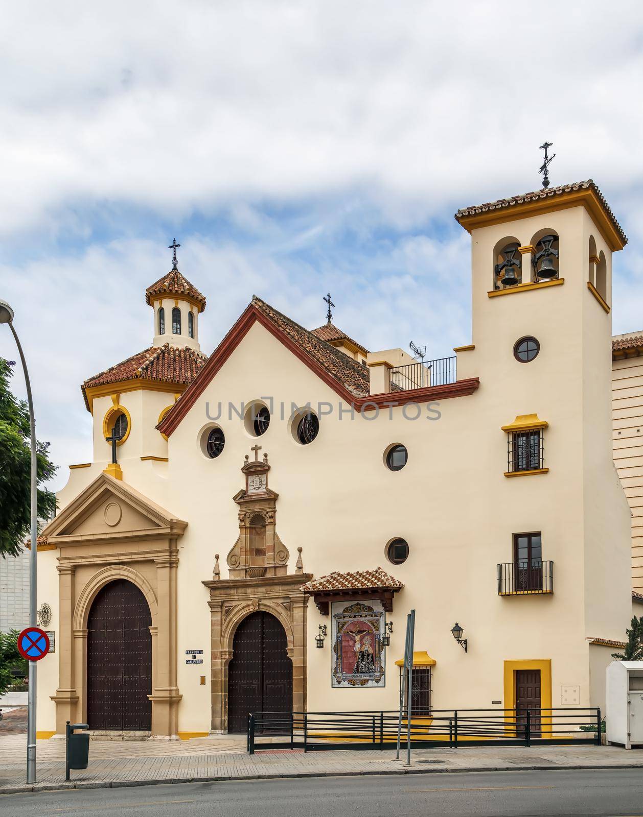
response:
M605 673L607 742L643 746L643 661L613 661Z

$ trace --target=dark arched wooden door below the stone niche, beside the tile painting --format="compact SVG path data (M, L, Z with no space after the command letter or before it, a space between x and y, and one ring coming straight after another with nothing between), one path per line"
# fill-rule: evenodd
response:
M245 732L249 712L291 712L293 665L275 616L251 613L236 628L227 674L228 732Z

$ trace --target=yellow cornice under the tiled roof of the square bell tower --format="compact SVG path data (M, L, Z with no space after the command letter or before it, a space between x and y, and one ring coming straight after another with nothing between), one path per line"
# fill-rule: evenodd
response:
M569 208L574 207L584 207L587 210L612 252L623 249L625 242L605 212L600 199L591 188L573 190L564 194L553 194L545 196L543 199L512 204L506 208L474 213L472 216L462 216L458 221L468 233L471 233L472 230L476 230L478 227L504 224L506 221L519 221L522 218L531 218L546 212L569 210Z

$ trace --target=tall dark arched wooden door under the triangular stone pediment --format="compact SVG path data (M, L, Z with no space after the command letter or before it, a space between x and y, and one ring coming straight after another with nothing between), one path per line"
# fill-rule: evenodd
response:
M145 596L117 579L89 610L87 712L92 730L151 730L152 619Z

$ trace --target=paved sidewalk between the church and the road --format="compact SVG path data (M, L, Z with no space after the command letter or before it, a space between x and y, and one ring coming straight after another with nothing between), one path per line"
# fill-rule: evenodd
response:
M338 775L400 775L427 772L531 769L643 768L643 751L611 746L546 748L435 748L413 751L411 767L389 749L308 752L268 749L255 755L220 738L180 742L92 741L89 767L65 783L65 741L38 740L38 783L25 784L25 734L0 736L0 794L56 788L110 788L196 780L268 779Z

